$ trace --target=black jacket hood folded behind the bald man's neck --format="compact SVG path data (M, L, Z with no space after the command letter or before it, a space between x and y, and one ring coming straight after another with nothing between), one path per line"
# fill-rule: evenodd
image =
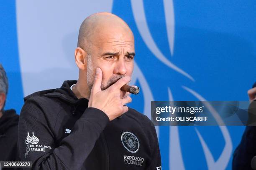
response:
M86 98L78 99L70 89L70 87L76 83L77 83L77 80L66 80L63 82L60 88L38 91L24 97L24 102L26 102L26 100L28 100L30 97L46 96L46 97L57 97L60 100L63 100L71 105L79 105L81 103L84 104L84 102L87 102L88 104L88 100Z

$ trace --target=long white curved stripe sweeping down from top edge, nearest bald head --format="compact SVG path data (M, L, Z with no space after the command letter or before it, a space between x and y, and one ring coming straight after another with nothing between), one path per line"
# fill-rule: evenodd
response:
M195 81L194 78L189 75L187 72L184 72L182 69L174 65L172 62L170 62L159 50L156 43L154 42L153 37L151 36L151 33L148 29L148 24L146 21L146 16L144 12L143 7L143 1L142 0L131 0L131 6L133 10L134 20L137 25L137 28L140 32L140 35L147 45L148 49L151 50L151 52L165 65L172 68L173 70L181 73L182 75L188 77L190 80ZM170 9L173 10L173 9ZM139 11L139 12L137 12ZM174 30L174 28L173 28Z

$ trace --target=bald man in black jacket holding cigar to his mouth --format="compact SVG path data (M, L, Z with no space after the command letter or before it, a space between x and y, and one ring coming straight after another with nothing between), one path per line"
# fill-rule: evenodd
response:
M127 107L134 38L116 15L97 13L79 30L79 78L24 98L19 150L32 169L161 170L156 130Z

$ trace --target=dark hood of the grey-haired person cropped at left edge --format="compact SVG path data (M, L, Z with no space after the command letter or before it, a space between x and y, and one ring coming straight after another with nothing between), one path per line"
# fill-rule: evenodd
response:
M0 134L5 134L5 132L18 125L19 115L13 109L3 111L3 116L0 118Z

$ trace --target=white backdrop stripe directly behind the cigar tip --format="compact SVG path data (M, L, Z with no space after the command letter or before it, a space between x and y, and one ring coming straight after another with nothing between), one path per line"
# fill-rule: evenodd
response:
M146 115L148 118L151 118L151 101L154 100L154 97L152 95L152 92L150 90L150 87L148 85L148 82L146 78L144 77L141 69L138 67L137 63L134 62L134 69L133 69L133 76L131 80L131 85L134 85L136 83L136 80L139 81L141 85L141 89L143 89L143 98L144 98L144 109L143 114ZM159 128L158 126L155 126L156 128L156 134L159 138Z

